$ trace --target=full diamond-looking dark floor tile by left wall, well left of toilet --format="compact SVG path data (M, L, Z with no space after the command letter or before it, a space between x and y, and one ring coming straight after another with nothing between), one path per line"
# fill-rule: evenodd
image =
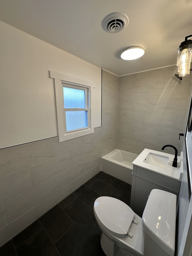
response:
M39 220L53 244L74 224L58 205L46 212Z

